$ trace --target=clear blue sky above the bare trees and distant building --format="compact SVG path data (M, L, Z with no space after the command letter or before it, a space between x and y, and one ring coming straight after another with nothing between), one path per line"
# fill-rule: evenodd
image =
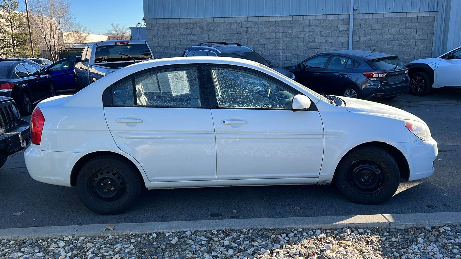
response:
M19 10L25 12L24 0L19 0ZM94 34L107 33L111 23L120 27L135 27L142 22L142 0L78 0L71 1L75 22L91 29Z

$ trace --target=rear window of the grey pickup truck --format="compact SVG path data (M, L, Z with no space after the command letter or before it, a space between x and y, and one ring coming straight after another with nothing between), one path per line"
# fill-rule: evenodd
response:
M123 54L122 54L123 53ZM147 44L120 44L96 47L95 63L152 59Z

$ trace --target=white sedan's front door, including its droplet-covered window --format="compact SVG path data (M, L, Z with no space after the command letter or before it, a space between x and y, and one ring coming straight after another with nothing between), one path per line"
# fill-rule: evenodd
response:
M297 91L275 78L210 66L216 179L319 177L324 144L319 112L291 111Z

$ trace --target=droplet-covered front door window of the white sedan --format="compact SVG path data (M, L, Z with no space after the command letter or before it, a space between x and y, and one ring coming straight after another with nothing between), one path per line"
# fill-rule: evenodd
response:
M295 94L247 71L210 68L219 107L291 109Z

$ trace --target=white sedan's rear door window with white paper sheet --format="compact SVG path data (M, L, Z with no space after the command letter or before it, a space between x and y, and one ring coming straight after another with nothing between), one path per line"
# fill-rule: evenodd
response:
M135 77L138 106L200 107L196 68L151 71Z

